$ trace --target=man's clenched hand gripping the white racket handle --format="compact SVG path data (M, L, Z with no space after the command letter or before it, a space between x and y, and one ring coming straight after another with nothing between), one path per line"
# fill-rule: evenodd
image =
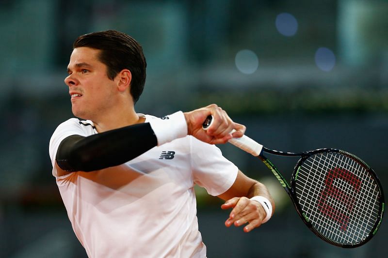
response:
M188 135L210 144L226 143L233 137L242 137L245 133L246 128L244 125L233 122L225 110L215 104L185 112L184 115L187 122ZM202 124L209 115L213 116L213 121L205 131L202 128ZM233 129L236 132L231 134L230 132Z

